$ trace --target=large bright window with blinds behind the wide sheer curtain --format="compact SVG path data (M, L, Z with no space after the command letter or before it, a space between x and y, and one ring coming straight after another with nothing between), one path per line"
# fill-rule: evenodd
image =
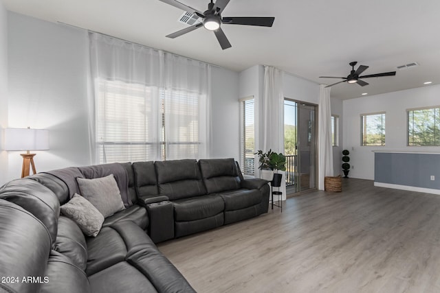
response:
M199 95L99 79L99 163L199 157Z

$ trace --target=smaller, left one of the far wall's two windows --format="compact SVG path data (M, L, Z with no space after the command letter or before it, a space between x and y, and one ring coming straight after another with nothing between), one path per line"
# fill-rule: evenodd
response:
M385 145L385 113L361 115L361 145Z

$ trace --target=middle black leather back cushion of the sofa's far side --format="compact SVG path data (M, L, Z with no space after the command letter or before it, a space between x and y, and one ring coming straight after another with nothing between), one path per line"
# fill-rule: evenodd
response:
M159 194L170 200L206 194L196 160L157 161L155 169Z

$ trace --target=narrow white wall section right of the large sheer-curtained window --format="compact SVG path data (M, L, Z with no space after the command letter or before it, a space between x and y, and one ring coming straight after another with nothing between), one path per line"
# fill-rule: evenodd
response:
M212 67L212 158L240 159L239 73Z

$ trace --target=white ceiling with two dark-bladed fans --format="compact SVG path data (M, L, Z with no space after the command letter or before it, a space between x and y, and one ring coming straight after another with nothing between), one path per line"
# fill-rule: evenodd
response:
M275 16L273 27L222 25L232 48L224 51L203 28L175 39L182 11L159 0L2 0L6 9L52 22L68 23L148 47L164 49L234 71L272 65L317 83L347 76L349 62L368 65L368 86L342 83L340 99L440 84L439 0L230 0L223 16ZM179 0L204 11L208 0ZM397 70L418 62L419 67ZM357 68L357 67L356 67Z

